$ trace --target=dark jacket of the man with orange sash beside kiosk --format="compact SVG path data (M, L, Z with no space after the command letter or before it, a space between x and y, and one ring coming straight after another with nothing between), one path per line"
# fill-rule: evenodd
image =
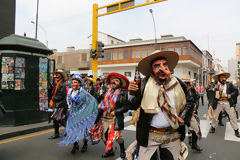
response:
M52 96L54 94L55 88L56 88L56 85L53 88ZM67 100L66 100L66 94L67 94L66 84L65 84L65 82L62 81L58 86L55 97L52 99L55 108L67 108L68 107Z

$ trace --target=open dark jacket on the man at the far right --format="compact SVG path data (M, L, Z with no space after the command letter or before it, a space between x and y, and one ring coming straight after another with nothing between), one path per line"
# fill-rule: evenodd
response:
M211 85L211 87L209 88L209 93L210 93L210 104L211 106L213 107L213 109L216 109L217 108L217 104L218 104L218 99L216 99L216 90L214 89L215 88L215 85L217 83L213 83ZM228 99L229 101L229 104L230 104L230 107L233 107L234 104L236 104L234 102L234 99L236 101L236 98L237 95L238 95L238 90L237 90L237 87L235 87L232 83L230 82L226 82L226 85L227 85L227 94L230 94L231 95L231 98Z

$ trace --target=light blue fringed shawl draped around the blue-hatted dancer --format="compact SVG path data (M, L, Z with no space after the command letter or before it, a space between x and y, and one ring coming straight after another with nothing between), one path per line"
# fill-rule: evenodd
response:
M68 95L68 100L72 106L60 146L86 138L98 114L96 99L84 89L74 97Z

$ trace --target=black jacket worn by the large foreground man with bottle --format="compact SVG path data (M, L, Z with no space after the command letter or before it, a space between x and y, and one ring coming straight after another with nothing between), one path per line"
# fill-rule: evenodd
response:
M135 96L133 99L130 100L131 101L130 109L136 110L137 108L140 107L140 104L142 101L142 95L144 93L144 89L148 81L148 78L149 77L145 77L142 80L142 90L141 90L142 94L140 96ZM186 95L186 106L179 116L184 120L185 123L189 123L193 113L194 100L191 96L189 96L187 85L184 82L182 82L180 79L178 79L178 81ZM144 147L148 146L149 129L150 129L150 124L153 116L154 114L145 113L142 108L140 109L140 117L137 123L137 135L136 135L138 144L140 146L144 146ZM181 128L181 131L184 132L184 133L181 132L181 136L183 136L181 140L183 141L185 136L185 126L180 128Z

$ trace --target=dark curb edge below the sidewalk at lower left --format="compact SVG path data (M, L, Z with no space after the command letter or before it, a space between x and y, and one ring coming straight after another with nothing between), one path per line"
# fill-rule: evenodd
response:
M13 138L13 137L17 137L17 136L22 136L22 135L26 135L26 134L43 131L46 129L51 129L51 128L53 128L52 125L46 125L46 126L42 126L42 127L30 128L30 129L11 132L11 133L5 133L5 134L0 135L0 141L4 140L4 139L8 139L8 138Z

